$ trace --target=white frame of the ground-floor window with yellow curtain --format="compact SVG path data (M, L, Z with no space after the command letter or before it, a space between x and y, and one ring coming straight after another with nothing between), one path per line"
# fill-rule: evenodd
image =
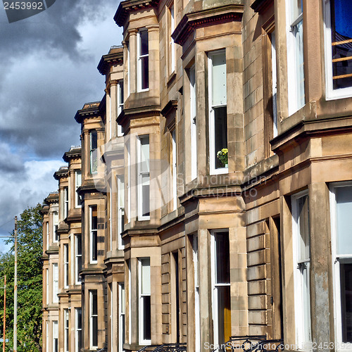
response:
M218 229L210 231L210 261L211 261L211 287L213 291L212 297L212 306L213 306L213 332L214 332L214 345L220 345L220 341L218 341L218 287L230 287L231 286L231 277L230 282L228 283L220 283L215 284L216 281L216 251L215 251L215 235L220 232L227 232L230 236L229 229ZM229 239L230 243L230 239ZM229 249L230 251L230 249ZM230 264L231 270L231 264ZM226 343L227 341L225 341Z

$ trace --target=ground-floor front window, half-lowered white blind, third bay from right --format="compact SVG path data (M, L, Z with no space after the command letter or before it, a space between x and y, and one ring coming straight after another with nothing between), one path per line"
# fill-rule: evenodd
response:
M138 260L139 344L151 344L151 265L149 258Z

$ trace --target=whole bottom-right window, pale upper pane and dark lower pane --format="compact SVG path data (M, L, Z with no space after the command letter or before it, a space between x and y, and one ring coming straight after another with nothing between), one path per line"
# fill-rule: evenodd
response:
M352 185L334 184L330 194L332 219L332 266L334 321L337 350L352 343Z

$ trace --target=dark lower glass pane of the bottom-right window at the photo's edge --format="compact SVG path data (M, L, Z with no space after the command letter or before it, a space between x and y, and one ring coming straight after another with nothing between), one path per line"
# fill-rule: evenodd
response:
M340 264L342 341L352 342L352 263Z

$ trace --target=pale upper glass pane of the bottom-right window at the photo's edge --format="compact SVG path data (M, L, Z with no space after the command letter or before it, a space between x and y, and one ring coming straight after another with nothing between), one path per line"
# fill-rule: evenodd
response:
M337 255L352 255L352 187L338 187L337 199Z

